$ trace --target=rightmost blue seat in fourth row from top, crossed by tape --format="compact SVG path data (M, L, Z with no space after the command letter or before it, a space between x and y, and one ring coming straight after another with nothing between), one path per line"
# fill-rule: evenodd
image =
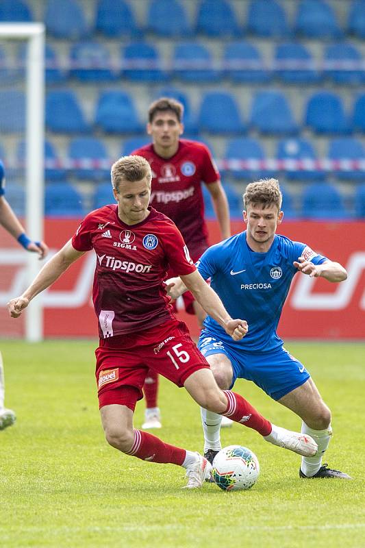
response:
M346 160L361 160L365 163L365 149L362 142L351 137L333 139L329 142L328 158L345 162ZM338 179L361 182L365 180L364 171L335 171Z

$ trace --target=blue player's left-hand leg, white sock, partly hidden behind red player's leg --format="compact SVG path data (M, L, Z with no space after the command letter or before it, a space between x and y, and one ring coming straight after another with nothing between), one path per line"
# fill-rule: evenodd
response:
M205 354L205 360L210 364L216 384L222 390L228 390L233 380L232 364L223 353ZM201 425L204 432L204 456L213 461L221 446L221 423L224 415L201 408ZM227 418L227 417L225 417ZM228 419L232 422L230 419Z

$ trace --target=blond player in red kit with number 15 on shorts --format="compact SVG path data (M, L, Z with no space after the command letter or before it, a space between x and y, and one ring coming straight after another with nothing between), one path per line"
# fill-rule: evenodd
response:
M29 301L94 249L92 299L100 337L96 380L101 423L112 447L142 460L183 466L188 488L201 487L210 475L211 464L199 453L134 429L134 408L142 398L151 366L177 386L184 386L200 406L229 415L273 445L306 456L316 453L310 436L272 425L242 396L218 388L186 325L175 318L164 283L169 266L229 336L240 340L247 333L246 321L231 319L221 299L197 272L173 221L149 207L151 168L147 160L126 156L115 162L112 185L117 206L104 206L86 216L23 295L8 303L10 315L20 316Z

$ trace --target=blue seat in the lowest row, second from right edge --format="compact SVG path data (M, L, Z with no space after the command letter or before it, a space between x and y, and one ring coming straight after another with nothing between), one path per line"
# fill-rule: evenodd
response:
M344 219L342 195L330 183L312 183L303 191L301 215L306 219Z

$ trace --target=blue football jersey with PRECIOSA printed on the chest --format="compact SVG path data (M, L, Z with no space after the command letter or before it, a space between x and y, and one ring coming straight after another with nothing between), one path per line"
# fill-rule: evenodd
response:
M314 264L327 260L307 245L278 234L267 253L252 251L246 232L207 249L197 262L199 272L204 279L211 278L211 286L230 316L247 320L249 332L234 343L210 316L204 321L205 328L217 338L250 351L269 351L282 345L277 324L292 278L298 272L293 262L301 256Z

